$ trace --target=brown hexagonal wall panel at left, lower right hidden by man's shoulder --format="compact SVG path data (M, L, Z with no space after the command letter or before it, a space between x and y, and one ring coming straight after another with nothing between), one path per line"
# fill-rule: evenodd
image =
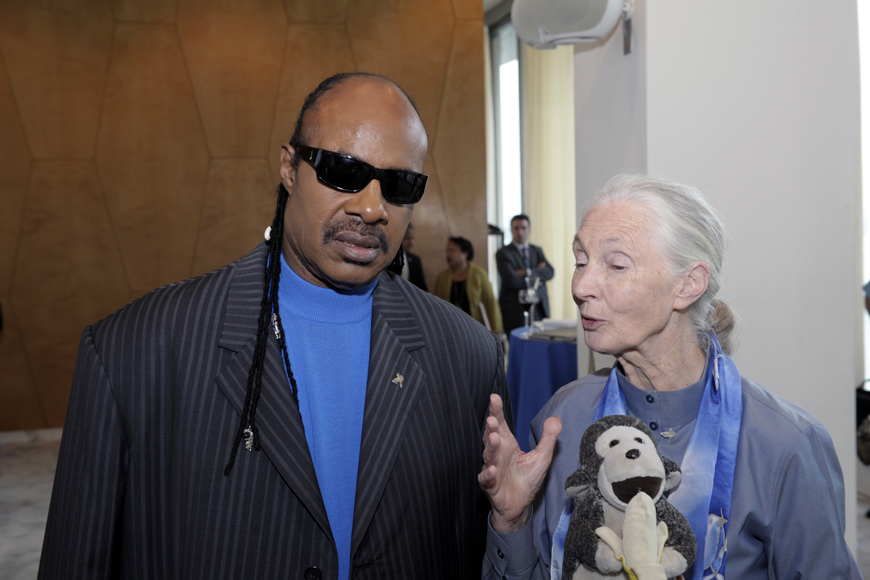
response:
M35 162L28 192L12 305L54 427L64 423L78 337L129 290L92 162Z

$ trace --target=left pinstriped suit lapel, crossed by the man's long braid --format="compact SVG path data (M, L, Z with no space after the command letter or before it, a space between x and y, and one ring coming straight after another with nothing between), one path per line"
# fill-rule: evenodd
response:
M257 342L257 317L263 296L265 258L266 247L261 243L256 250L236 263L230 294L227 297L224 330L219 343L222 348L236 352L236 356L218 375L217 383L239 417L244 408L248 370L251 368ZM278 350L278 340L271 332L266 348L261 392L257 405L260 447L293 493L305 504L311 517L314 517L326 536L334 542L323 497L320 495L318 477L311 461L311 451L305 439L302 417L291 396L290 383ZM244 452L244 447L238 451L237 462L243 458ZM236 476L237 473L231 473L229 477Z

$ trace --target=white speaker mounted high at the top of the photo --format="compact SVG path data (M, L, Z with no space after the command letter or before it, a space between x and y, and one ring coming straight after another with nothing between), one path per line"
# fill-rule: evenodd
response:
M536 49L554 49L557 44L606 38L624 10L631 16L633 4L625 0L513 0L511 20L523 42Z

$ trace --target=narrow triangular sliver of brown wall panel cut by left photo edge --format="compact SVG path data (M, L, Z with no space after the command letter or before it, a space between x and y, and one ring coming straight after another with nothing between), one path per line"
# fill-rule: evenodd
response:
M0 60L0 296L9 294L12 260L24 207L30 153ZM2 375L0 375L2 376Z

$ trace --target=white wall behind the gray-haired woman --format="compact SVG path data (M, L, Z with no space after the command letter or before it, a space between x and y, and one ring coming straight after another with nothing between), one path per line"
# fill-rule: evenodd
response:
M742 319L734 358L830 430L855 550L854 0L637 4L635 55L622 56L619 35L575 55L578 210L621 170L694 183L713 198L733 237L722 295Z

